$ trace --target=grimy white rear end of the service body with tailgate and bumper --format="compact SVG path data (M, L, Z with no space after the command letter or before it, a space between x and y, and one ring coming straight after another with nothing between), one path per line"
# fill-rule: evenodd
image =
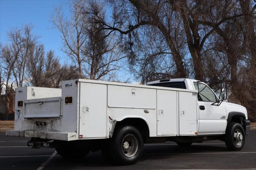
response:
M75 84L75 80L66 81L66 83ZM69 87L68 91L45 87L16 88L14 130L9 130L6 134L9 136L77 140L78 96L74 96L77 92L78 85ZM76 105L63 105L62 96L74 96L73 103ZM18 101L24 102L23 107L18 107ZM43 104L40 105L38 102L43 102ZM48 111L46 111L47 109ZM17 113L20 113L19 117ZM35 122L40 121L46 121L47 125L36 126Z

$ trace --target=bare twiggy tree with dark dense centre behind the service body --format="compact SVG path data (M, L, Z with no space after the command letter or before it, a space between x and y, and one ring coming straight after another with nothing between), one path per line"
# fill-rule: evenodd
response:
M88 35L83 48L85 58L84 72L86 78L93 80L113 79L116 71L122 67L122 60L126 57L118 50L120 43L116 34L108 35L102 23L97 22L100 16L105 20L104 4L90 1L84 9L88 27L84 32Z

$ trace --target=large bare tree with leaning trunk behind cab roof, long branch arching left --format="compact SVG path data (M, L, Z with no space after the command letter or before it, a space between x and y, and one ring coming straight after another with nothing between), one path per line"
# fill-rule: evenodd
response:
M175 46L174 38L171 34L172 28L171 25L168 24L168 21L172 19L172 12L167 12L166 14L165 11L162 10L165 6L166 3L164 1L114 1L112 3L113 20L105 22L97 15L96 19L97 22L101 22L104 25L105 30L109 30L108 34L111 34L114 31L121 34L121 38L124 38L124 41L127 44L124 45L123 49L124 51L130 51L128 56L131 60L136 57L134 52L135 42L132 40L138 39L138 37L136 38L136 36L139 36L136 35L138 33L138 28L143 28L144 26L157 28L166 41L166 45L173 57L176 66L176 77L186 77L187 74L184 69L182 55L180 54L179 49ZM138 45L137 47L140 46Z

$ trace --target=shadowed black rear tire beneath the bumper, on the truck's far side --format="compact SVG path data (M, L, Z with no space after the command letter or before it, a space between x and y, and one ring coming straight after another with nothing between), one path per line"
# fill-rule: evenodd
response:
M83 158L90 151L87 147L81 147L75 142L58 142L55 150L63 158Z

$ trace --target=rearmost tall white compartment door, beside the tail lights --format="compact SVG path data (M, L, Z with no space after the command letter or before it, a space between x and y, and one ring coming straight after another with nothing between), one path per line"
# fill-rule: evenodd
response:
M107 85L80 83L80 137L106 137L106 108Z

